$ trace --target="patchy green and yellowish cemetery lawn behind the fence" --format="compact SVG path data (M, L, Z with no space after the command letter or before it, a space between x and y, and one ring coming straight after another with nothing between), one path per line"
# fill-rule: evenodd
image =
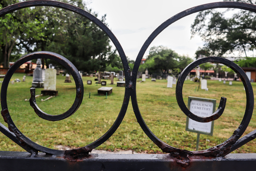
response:
M14 74L11 81L18 78L22 80L24 74ZM95 84L95 77L83 77L84 97L80 108L67 119L61 121L47 121L39 118L30 107L30 87L32 77L26 77L26 82L9 83L7 91L7 104L10 115L18 129L34 142L49 148L56 149L57 145L69 146L71 148L83 147L101 137L114 123L122 106L124 87L116 87L116 78L113 93L106 99L99 96L97 89L102 87ZM2 81L3 79L0 79ZM57 75L58 96L41 102L49 96L36 98L37 105L44 112L51 115L61 114L71 107L76 88L71 77L71 83L64 83L65 77ZM92 80L92 85L86 81ZM141 80L141 79L139 79ZM2 83L0 83L2 84ZM145 82L137 82L137 102L146 124L151 131L167 144L186 150L196 149L197 134L185 130L186 116L179 109L176 97L175 86L167 88L167 80L156 80L152 82L146 79ZM252 83L256 92L256 83ZM223 115L214 122L213 136L200 135L199 150L207 149L224 142L233 131L239 126L246 108L246 94L243 84L233 81L230 86L228 81L223 84L219 81L207 80L209 91L201 90L195 92L198 83L190 80L185 81L183 87L183 98L187 105L188 96L216 99L216 106L219 105L221 97L227 98L227 104ZM36 89L40 94L42 88ZM91 98L89 99L89 92ZM254 94L255 96L255 94ZM7 126L1 117L0 122ZM244 135L256 128L255 110L251 122ZM252 140L233 153L256 153L256 141ZM129 103L123 122L117 131L106 142L96 149L103 150L129 150L136 152L146 151L147 153L161 153L162 151L145 135L136 121L131 101ZM0 150L24 151L12 140L0 133Z

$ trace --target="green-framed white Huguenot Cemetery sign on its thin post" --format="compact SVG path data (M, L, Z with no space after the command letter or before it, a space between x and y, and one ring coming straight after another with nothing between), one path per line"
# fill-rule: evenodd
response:
M188 97L188 109L197 116L207 117L215 112L216 100L199 97ZM196 150L198 151L200 134L213 134L214 121L197 122L187 117L186 131L197 132Z

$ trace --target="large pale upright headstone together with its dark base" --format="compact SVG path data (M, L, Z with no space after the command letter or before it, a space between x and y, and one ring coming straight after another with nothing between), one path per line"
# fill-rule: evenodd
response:
M56 69L45 69L44 90L41 91L41 94L43 94L44 96L58 95L58 91L56 91Z

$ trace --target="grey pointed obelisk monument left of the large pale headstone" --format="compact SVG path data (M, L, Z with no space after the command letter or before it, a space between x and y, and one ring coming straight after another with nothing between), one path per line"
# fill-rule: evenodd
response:
M41 59L37 59L36 64L36 69L33 71L32 87L42 88L44 87L44 81L42 80Z

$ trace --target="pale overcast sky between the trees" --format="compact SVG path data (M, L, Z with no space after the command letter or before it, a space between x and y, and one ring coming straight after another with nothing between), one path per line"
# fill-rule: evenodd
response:
M168 18L188 8L218 1L91 0L88 7L99 14L98 18L106 14L106 22L121 43L126 56L135 60L148 36ZM148 50L152 46L164 45L180 55L194 58L195 51L204 44L199 36L190 40L190 26L196 15L191 14L171 24L156 37Z

